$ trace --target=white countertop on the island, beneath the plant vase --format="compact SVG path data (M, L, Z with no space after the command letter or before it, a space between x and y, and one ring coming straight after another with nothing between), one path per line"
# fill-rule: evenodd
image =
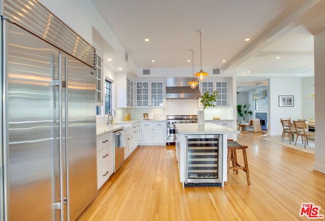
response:
M176 124L179 134L238 134L239 131L216 125L213 123L205 123L204 126L198 124Z

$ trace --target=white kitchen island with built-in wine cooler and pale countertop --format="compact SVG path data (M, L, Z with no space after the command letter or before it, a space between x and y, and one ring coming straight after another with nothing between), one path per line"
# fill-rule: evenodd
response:
M227 137L239 131L206 123L176 124L176 158L185 186L223 186L227 181Z

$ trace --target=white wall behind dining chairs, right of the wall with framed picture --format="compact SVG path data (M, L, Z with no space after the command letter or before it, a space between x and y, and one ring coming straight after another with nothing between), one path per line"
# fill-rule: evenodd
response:
M315 97L308 97L308 95L314 95L314 77L308 77L302 79L302 117L303 119L315 118Z

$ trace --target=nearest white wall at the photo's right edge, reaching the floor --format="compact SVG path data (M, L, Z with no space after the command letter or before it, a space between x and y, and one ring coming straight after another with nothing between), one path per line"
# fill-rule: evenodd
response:
M315 56L315 163L314 170L325 173L325 31L314 36Z

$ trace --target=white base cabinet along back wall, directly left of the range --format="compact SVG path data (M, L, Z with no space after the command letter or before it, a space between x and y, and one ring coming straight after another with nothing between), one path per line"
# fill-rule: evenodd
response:
M141 145L166 145L166 122L142 122Z

